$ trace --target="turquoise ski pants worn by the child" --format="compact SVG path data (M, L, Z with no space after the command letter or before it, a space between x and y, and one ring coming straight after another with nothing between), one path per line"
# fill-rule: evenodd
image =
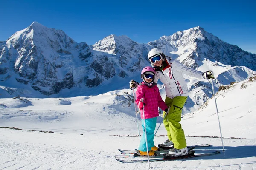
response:
M140 140L140 146L139 150L146 152L147 146L146 146L146 137L145 137L145 127L146 127L146 133L147 133L147 142L148 142L148 151L151 150L151 147L154 147L154 130L156 129L157 125L157 117L145 119L146 126L144 125L144 119L141 119L141 126L143 130L143 135Z

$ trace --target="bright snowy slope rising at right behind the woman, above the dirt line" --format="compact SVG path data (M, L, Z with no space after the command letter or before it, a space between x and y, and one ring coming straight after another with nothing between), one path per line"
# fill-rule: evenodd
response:
M216 94L223 137L255 138L256 77L227 87ZM213 98L197 111L184 115L181 122L186 135L220 136L217 130L218 116ZM193 128L189 125L190 122L193 123Z

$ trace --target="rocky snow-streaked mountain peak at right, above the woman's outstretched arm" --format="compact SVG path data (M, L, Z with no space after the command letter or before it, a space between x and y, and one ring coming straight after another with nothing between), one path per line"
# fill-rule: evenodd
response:
M256 70L256 54L228 44L201 27L178 31L148 44L162 48L165 53L171 53L172 57L178 57L180 62L193 68L200 68L207 59L224 65L246 66Z

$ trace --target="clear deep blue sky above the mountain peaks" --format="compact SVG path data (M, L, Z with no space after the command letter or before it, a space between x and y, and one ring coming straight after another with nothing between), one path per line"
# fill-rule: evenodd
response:
M224 2L222 2L224 1ZM88 45L115 34L138 43L201 26L256 53L255 0L1 0L0 41L33 21Z

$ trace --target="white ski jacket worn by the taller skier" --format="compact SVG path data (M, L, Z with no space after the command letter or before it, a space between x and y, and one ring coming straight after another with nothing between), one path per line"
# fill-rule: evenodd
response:
M164 84L166 96L169 98L189 95L189 89L182 73L198 79L204 79L203 72L189 68L175 59L165 59L163 62L167 62L168 65L162 71L155 69L156 77L154 82L157 83L158 79L160 79Z

